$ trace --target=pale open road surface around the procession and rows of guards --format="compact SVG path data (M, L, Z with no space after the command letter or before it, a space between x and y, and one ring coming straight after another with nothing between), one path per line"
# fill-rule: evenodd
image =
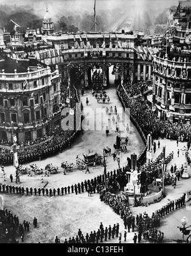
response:
M97 107L105 108L106 106L113 108L116 105L117 109L121 106L116 87L107 89L107 94L110 96L111 102L109 104L97 103L90 91L85 92L85 95L81 97L83 105L85 106L86 98L88 97L89 106L92 109ZM92 116L90 116L92 117ZM92 117L93 118L93 117ZM103 122L103 126L106 122ZM46 163L53 163L58 165L63 161L75 162L76 155L87 153L88 149L94 149L99 154L103 154L103 147L111 147L113 152L113 144L116 141L115 131L110 131L109 137L106 137L105 127L101 131L85 131L78 136L78 138L71 144L71 149L65 149L62 153L52 156L51 158L41 160L36 163L40 167L45 167ZM157 143L158 141L156 141ZM185 163L185 146L186 143L180 142L178 147L176 141L160 139L160 148L157 148L155 154L153 154L153 160L161 153L162 147L166 146L166 155L174 151L174 159L167 165L167 172L169 172L171 164L176 163L180 168L181 164ZM141 137L131 123L131 130L129 134L129 144L127 147L127 153L120 154L120 165L125 165L127 156L132 153L139 155L143 150L143 141ZM178 157L177 151L180 149L180 156ZM106 158L107 170L117 169L117 162L113 162L112 156ZM14 174L13 167L5 167L6 183L9 182L10 174ZM188 167L188 172L191 174L191 169ZM60 170L59 174L54 174L50 177L43 177L44 183L48 182L48 188L57 188L58 186L66 186L83 181L84 179L90 179L97 174L103 174L103 167L97 165L95 169L90 167L90 174L85 174L81 170L73 170L73 172L63 175ZM41 186L41 176L20 176L21 184L24 186ZM0 182L3 183L3 177L0 177ZM169 200L178 199L184 192L191 190L191 179L180 179L177 182L176 188L173 186L165 186L166 197L156 204L150 204L149 206L131 207L133 215L143 213L146 211L150 216L154 211L164 206ZM43 197L43 196L20 196L20 195L4 195L5 208L13 211L18 215L20 220L29 220L32 223L34 216L38 218L38 228L29 232L25 236L25 243L38 243L38 241L44 243L52 243L55 236L59 236L61 242L65 238L76 236L78 229L81 229L83 234L90 232L91 230L97 230L100 222L103 222L104 227L113 225L114 223L120 224L120 232L122 237L124 236L124 225L120 216L116 215L109 206L106 206L99 200L99 195L95 194L92 197L88 197L87 193L81 193L80 195L65 195L60 197ZM174 211L167 215L161 221L160 230L164 232L164 241L173 243L176 239L181 239L181 233L177 228L180 225L180 220L183 216L188 218L188 223L191 223L191 206L187 203L187 206ZM98 217L99 216L99 217ZM170 226L169 226L170 223ZM170 227L170 229L169 229ZM127 242L132 243L133 232L127 234ZM122 242L124 239L122 238ZM118 243L118 238L112 239L111 243Z

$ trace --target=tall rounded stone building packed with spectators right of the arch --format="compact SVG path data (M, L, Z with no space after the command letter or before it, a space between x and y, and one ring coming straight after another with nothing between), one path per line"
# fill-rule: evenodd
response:
M191 119L190 11L178 5L166 45L153 55L153 104L158 116L171 122Z

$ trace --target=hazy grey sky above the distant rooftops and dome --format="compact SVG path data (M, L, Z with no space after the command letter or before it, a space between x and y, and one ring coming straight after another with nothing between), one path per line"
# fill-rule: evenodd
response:
M84 11L94 13L94 0L11 0L9 2L0 0L0 4L30 6L39 17L45 14L46 5L48 5L53 20L59 19L62 15L76 15ZM117 10L118 8L122 13L129 15L136 15L144 10L160 13L171 5L178 5L178 0L96 0L97 15L100 10Z

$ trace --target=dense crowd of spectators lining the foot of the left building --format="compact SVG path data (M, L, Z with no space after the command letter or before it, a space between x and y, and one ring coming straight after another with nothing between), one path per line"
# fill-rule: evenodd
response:
M73 105L78 102L78 95L74 87L71 87L71 95ZM62 102L66 102L66 88L61 92ZM59 107L59 106L58 106ZM20 164L31 161L41 160L52 154L58 153L67 147L73 139L76 132L74 130L62 130L60 126L55 127L55 130L45 136L27 142L21 142L18 145L28 146L18 149L18 162ZM11 146L11 142L2 140L3 145ZM1 144L1 143L0 143ZM13 163L13 152L10 149L0 148L0 164L10 165Z

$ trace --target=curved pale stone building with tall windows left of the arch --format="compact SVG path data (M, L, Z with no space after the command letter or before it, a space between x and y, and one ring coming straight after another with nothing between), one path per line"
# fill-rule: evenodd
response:
M34 66L35 65L35 66ZM60 75L37 61L0 64L0 138L19 142L49 134L59 123Z

